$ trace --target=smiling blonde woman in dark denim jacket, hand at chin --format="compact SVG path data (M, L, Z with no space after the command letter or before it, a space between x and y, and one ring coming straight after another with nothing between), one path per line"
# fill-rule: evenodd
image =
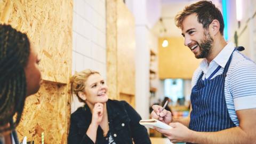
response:
M71 115L68 143L151 143L139 114L125 101L108 99L99 72L83 70L70 82L71 91L85 105Z

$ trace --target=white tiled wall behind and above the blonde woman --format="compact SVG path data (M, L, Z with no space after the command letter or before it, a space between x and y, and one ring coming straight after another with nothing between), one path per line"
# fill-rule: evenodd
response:
M106 0L74 0L72 74L86 68L106 78ZM82 105L75 98L71 112Z

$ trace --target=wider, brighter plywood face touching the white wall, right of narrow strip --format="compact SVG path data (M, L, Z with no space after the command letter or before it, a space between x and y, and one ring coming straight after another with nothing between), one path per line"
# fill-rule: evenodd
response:
M123 1L117 1L117 72L119 92L135 94L135 22Z

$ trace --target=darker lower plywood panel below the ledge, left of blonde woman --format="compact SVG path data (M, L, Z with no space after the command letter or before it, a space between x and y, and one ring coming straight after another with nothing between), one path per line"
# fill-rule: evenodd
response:
M67 127L70 113L66 86L43 83L39 92L26 99L21 122L17 128L20 139L41 143L67 143ZM68 105L67 105L68 103Z

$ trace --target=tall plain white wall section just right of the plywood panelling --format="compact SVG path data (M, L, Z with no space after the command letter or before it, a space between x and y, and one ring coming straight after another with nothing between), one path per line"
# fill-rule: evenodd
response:
M149 62L150 49L157 50L157 39L150 28L161 14L160 0L126 0L126 6L133 13L136 27L135 73L136 92L135 108L142 119L149 118ZM154 7L154 9L153 9Z

